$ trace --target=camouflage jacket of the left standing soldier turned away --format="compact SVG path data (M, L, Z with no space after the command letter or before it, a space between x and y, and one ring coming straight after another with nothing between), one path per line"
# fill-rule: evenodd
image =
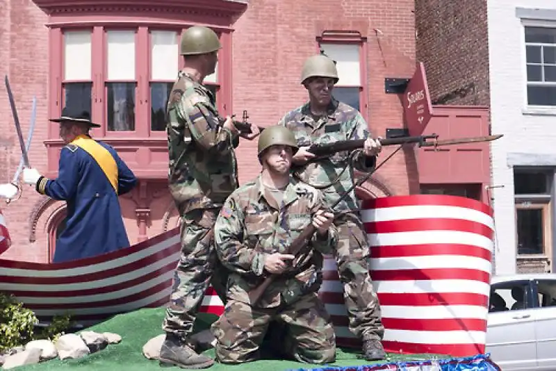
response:
M238 187L239 138L218 121L210 90L179 72L166 109L170 192L181 215L220 207Z

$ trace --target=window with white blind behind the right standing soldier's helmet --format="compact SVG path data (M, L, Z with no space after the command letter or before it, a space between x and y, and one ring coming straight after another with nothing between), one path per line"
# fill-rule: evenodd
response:
M361 63L360 44L320 43L320 49L336 61L338 83L334 87L334 98L357 110L361 108Z

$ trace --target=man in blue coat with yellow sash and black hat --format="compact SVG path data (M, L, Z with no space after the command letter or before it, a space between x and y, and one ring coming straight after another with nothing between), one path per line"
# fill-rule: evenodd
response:
M136 185L133 172L106 143L93 140L90 128L100 127L88 112L64 108L58 178L47 179L36 169L24 169L23 181L41 195L67 203L66 225L56 241L54 263L97 256L129 247L118 196Z

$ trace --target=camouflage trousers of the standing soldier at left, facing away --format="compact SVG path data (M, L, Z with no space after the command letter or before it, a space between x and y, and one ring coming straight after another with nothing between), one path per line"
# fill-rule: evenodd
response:
M219 211L218 208L193 210L182 217L181 258L174 272L172 295L162 325L167 333L182 338L191 333L209 283L225 302L227 272L216 256L212 230Z

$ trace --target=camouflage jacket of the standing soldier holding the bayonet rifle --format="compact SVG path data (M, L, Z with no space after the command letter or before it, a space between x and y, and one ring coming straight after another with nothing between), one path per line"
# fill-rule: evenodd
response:
M358 110L336 100L329 105L328 115L315 121L309 103L286 113L279 122L293 131L297 145L327 144L338 140L368 138L369 131L365 119ZM353 186L354 169L349 165L349 152L343 151L309 163L296 170L302 181L311 186L332 186L322 189L325 204L332 206L340 196ZM347 166L347 168L346 168ZM375 157L366 157L362 152L354 158L354 167L361 172L370 172L375 167ZM344 170L345 169L345 170ZM334 208L335 212L345 212L357 208L355 192Z

